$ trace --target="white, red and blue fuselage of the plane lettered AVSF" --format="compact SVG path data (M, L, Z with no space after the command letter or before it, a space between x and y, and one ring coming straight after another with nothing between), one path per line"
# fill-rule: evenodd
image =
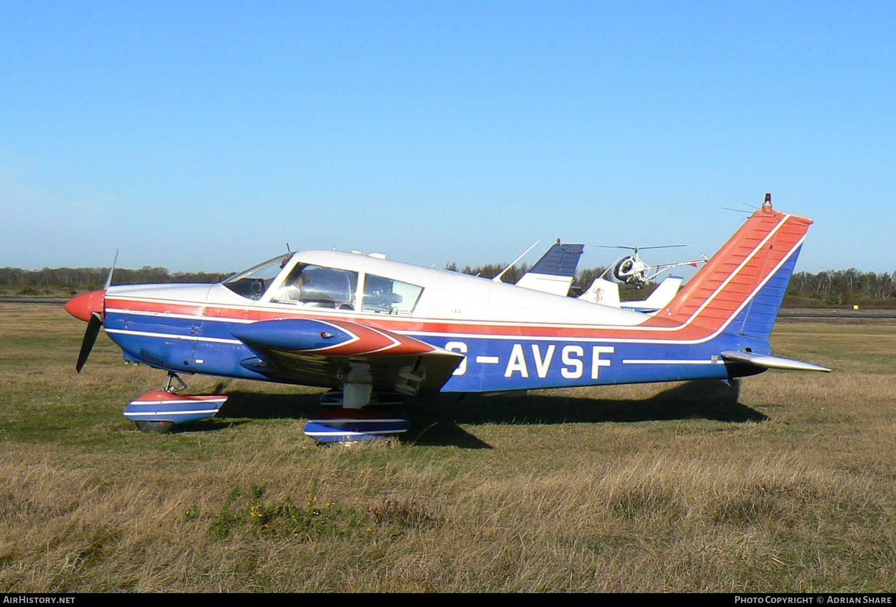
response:
M780 269L789 264L789 276L795 261L789 255ZM293 318L351 321L464 355L442 387L458 392L726 379L756 370L725 363L719 352L771 351L767 340L726 332L743 323L744 305L724 318L681 321L347 252L297 252L274 266L271 277L243 273L217 285L112 286L104 328L126 360L283 381L241 363L254 353L234 329ZM298 270L304 282L289 284ZM340 385L337 378L295 382Z

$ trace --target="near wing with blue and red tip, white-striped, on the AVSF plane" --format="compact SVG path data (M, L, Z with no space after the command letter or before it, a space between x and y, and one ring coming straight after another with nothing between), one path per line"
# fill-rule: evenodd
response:
M234 329L256 356L240 363L289 383L371 384L377 391L414 395L441 389L463 355L415 338L353 321L288 319Z

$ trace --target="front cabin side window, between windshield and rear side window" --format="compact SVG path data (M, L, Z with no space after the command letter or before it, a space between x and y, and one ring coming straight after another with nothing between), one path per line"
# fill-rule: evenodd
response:
M354 310L357 289L358 272L298 264L271 296L271 302Z

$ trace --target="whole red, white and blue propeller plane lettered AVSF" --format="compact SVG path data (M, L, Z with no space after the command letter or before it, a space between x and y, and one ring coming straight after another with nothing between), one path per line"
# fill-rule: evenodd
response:
M107 286L65 309L88 321L79 372L100 327L125 361L168 372L164 389L125 408L142 430L215 415L226 396L176 393L180 374L204 373L329 388L322 401L341 408L306 434L356 440L409 426L363 407L426 392L828 372L771 355L769 343L811 224L766 194L653 315L335 251L286 253L216 285Z

